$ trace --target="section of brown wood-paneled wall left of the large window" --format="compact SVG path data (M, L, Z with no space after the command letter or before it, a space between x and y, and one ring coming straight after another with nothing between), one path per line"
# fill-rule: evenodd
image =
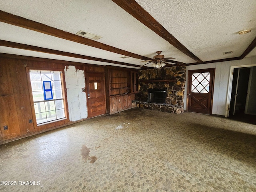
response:
M0 60L0 131L2 140L34 132L24 61ZM4 130L8 126L8 130Z

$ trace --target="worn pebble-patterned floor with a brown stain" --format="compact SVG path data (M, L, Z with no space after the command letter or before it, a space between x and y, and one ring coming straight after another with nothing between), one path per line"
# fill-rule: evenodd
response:
M4 192L255 192L256 125L133 108L1 145L0 180Z

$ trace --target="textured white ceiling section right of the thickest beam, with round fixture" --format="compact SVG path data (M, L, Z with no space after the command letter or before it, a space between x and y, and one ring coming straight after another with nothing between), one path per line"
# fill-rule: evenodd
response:
M255 0L137 2L203 61L228 58L222 54L232 50L232 57L240 56L256 37ZM247 28L252 32L238 35Z

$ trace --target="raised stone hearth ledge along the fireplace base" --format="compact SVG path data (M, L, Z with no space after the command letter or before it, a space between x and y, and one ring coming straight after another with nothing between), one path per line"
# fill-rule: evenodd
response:
M156 110L156 111L162 111L162 112L168 112L168 113L176 113L176 114L181 114L184 112L183 106L172 105L172 104L156 104L156 103L137 101L136 107L150 109L150 110Z

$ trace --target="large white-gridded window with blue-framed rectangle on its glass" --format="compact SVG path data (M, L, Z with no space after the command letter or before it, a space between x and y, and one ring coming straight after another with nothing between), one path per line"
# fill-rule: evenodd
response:
M37 125L65 116L62 72L29 70Z

